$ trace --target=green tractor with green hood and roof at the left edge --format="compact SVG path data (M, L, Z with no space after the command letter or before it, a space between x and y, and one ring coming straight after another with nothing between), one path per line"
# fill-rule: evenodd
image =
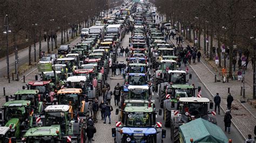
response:
M33 108L30 101L9 101L3 105L0 111L1 126L10 128L10 137L21 139L22 135L33 127Z

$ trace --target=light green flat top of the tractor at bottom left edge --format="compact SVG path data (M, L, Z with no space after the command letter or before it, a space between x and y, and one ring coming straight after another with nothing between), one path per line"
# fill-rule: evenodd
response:
M60 125L52 125L52 126L46 126L46 127L33 127L30 128L26 133L24 134L24 137L38 137L38 136L57 136L56 133L59 131L58 134L60 134Z

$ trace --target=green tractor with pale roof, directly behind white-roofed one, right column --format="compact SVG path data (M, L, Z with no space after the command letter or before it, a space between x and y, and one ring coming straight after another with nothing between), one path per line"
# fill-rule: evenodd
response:
M177 70L177 63L174 60L161 60L159 69L154 73L154 89L158 91L158 84L167 82L168 79L168 71L169 70Z

